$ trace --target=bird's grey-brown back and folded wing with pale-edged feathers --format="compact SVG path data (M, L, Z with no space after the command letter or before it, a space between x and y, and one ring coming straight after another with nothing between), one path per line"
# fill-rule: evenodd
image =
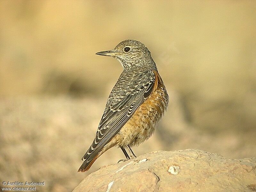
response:
M96 137L82 160L90 162L147 99L155 87L155 73L121 73L109 95Z

